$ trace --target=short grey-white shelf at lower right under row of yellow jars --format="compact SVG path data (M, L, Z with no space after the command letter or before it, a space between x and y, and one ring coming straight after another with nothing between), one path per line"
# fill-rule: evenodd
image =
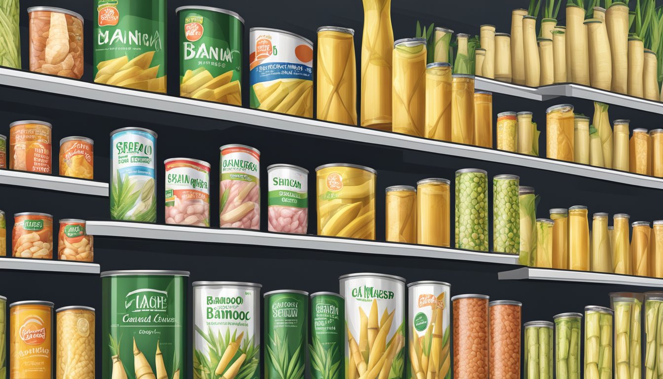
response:
M633 275L619 275L616 273L602 273L589 271L570 271L566 269L545 269L534 267L521 267L498 274L500 280L552 280L576 281L580 283L603 283L619 285L636 285L639 287L663 287L663 279Z

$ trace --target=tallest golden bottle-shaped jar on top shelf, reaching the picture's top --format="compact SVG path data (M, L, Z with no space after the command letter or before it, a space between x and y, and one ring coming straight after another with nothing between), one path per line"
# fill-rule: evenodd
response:
M391 130L391 0L362 0L361 126Z

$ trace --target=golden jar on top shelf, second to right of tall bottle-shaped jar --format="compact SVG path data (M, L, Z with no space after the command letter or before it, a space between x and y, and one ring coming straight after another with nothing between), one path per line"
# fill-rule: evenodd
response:
M434 62L426 66L426 117L424 137L452 140L452 65Z

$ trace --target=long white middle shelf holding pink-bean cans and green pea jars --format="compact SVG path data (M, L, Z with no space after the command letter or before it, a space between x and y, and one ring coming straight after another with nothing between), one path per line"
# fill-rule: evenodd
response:
M90 221L86 224L88 234L95 237L145 238L150 240L172 240L215 244L239 244L272 248L326 250L342 253L382 254L387 256L461 260L493 264L516 264L517 256L469 252L434 246L396 244L331 238L297 234L278 234L257 230L193 228L159 224L142 224L120 221Z

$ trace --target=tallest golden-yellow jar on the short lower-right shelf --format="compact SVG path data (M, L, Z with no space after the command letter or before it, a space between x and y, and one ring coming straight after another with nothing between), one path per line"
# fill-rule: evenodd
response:
M589 223L587 207L569 208L569 268L589 270Z

